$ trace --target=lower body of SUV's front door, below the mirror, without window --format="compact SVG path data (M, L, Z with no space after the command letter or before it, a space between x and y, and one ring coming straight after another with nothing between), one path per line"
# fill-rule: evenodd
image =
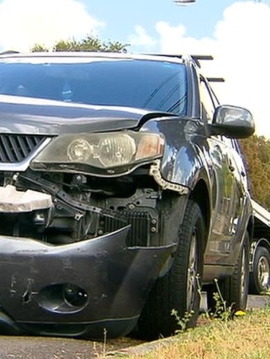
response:
M235 178L230 171L227 145L219 138L209 138L209 156L213 166L213 211L211 213L211 241L207 246L205 263L233 264L239 247L235 248L237 216L242 193L236 192Z

